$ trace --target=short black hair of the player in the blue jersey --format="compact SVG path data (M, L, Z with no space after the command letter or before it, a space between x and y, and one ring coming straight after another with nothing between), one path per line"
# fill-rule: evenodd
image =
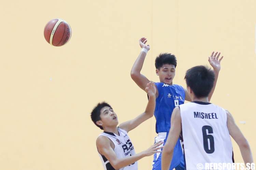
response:
M171 64L171 65L174 65L174 67L176 68L177 60L176 60L175 55L173 55L171 53L159 54L159 56L157 56L156 60L155 60L156 69L161 68L164 64Z

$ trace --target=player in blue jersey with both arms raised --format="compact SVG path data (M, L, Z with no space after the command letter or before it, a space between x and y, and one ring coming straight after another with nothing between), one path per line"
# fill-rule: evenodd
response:
M143 90L145 89L147 83L150 82L144 75L140 73L146 54L148 50L150 50L150 46L145 45L146 42L146 38L141 38L139 40L142 50L131 69L132 80ZM219 59L219 55L220 53L216 52L214 54L213 52L208 58L208 61L213 67L215 74L214 86L209 94L209 101L216 86L219 70L221 69L220 62L223 56ZM165 145L170 130L170 118L174 107L183 104L185 100L191 101L186 88L173 84L176 65L176 57L170 53L160 54L155 60L156 74L159 76L160 80L160 82L155 83L157 88L154 115L156 118L156 133L158 134L158 136L155 138L155 142L163 140L163 145ZM170 170L173 168L176 170L185 169L180 140L176 142L173 155ZM154 155L153 170L161 170L161 153L156 153Z

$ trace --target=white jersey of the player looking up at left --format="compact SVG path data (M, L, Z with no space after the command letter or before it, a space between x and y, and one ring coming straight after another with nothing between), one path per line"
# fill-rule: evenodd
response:
M131 140L128 136L128 133L120 128L117 128L119 136L111 132L103 132L100 135L108 137L115 145L114 152L118 159L125 158L128 156L135 155L134 147L131 143ZM112 165L109 163L109 160L106 159L104 155L100 155L101 162L103 164L104 170L115 170ZM135 162L129 166L121 168L119 170L138 170L138 163Z

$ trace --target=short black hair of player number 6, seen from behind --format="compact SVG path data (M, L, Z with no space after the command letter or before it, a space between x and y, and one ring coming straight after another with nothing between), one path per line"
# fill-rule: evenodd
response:
M196 66L187 70L185 75L187 86L191 88L197 98L209 96L215 74L205 66Z

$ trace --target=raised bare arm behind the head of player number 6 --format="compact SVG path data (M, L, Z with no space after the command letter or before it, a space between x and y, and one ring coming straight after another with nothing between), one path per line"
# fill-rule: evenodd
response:
M218 53L216 52L214 55L214 52L212 52L211 56L208 57L208 61L210 63L210 65L212 66L213 68L213 71L214 71L214 74L215 74L215 80L214 80L214 83L213 83L213 88L208 96L208 100L210 101L211 98L212 98L212 95L213 95L213 92L214 92L214 89L216 87L216 84L217 84L217 80L218 80L218 76L219 76L219 70L221 70L221 60L223 58L223 56L219 59L219 55L221 53ZM217 55L217 57L216 57Z

